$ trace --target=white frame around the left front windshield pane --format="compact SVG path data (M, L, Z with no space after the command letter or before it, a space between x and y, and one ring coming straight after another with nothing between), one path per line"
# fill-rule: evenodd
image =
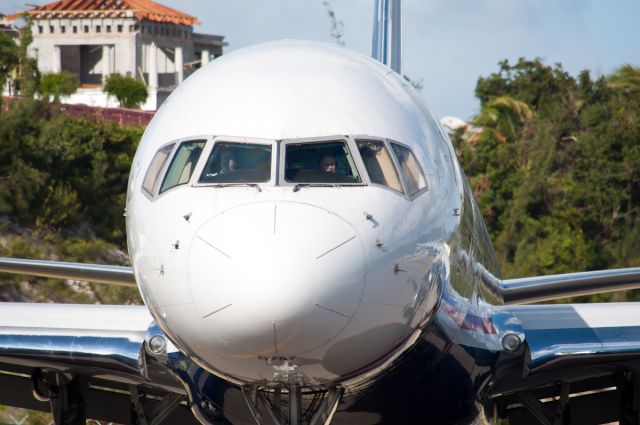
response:
M202 172L204 171L204 167L209 162L209 157L211 156L211 152L213 152L213 148L216 143L235 143L235 144L254 144L254 145L270 145L271 146L271 169L270 169L270 178L266 182L248 182L248 183L201 183L200 177L202 177ZM198 165L193 170L193 174L191 175L191 179L195 178L195 181L191 183L191 187L245 187L247 185L257 184L260 187L267 186L275 186L276 185L276 176L277 176L277 156L274 158L274 155L278 152L277 141L273 139L262 139L262 138L252 138L252 137L237 137L237 136L213 136L210 140L207 141L202 153L200 154L200 160L198 160ZM205 158L204 160L202 158ZM194 177L197 176L197 177Z

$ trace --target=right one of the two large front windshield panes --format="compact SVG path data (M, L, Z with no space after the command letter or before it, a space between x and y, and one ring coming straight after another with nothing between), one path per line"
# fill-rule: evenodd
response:
M361 182L349 148L342 140L288 143L285 180L289 183Z

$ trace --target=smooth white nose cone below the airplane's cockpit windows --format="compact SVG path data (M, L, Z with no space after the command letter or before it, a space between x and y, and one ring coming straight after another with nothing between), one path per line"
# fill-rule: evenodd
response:
M199 333L224 355L290 357L319 347L347 325L364 289L354 228L297 202L245 204L211 218L188 261Z

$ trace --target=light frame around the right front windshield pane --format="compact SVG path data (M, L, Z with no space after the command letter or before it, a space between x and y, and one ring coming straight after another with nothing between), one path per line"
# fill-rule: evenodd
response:
M288 182L285 178L285 169L286 169L286 153L287 153L287 145L289 144L302 144L302 143L326 143L326 142L344 142L347 145L347 149L349 149L349 155L353 159L353 166L355 167L355 171L358 173L360 177L360 182L355 183L309 183L309 182ZM357 155L353 153L357 152ZM367 186L369 183L369 174L362 173L362 170L365 170L364 163L362 162L362 158L360 157L360 151L358 150L358 146L353 138L345 135L336 135L336 136L321 136L321 137L300 137L295 139L282 139L278 143L278 181L277 185L281 187L295 187L297 185L303 186L314 186L314 187L350 187L350 186ZM365 178L366 177L366 178Z

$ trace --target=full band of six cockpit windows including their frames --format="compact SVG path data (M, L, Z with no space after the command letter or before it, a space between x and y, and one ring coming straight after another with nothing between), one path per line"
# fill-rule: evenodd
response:
M153 200L185 184L294 186L294 191L371 185L409 199L428 190L423 168L410 147L375 137L179 140L156 152L142 189Z

